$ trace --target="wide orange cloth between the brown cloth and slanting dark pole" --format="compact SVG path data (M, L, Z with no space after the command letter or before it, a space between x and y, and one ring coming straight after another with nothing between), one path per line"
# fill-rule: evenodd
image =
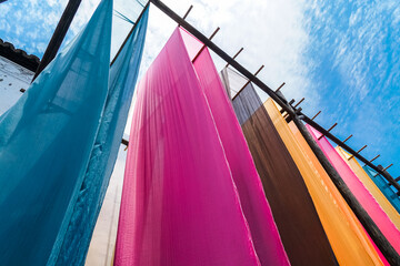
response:
M296 125L291 124L289 127L271 99L264 103L264 106L303 176L339 264L383 265L362 225Z

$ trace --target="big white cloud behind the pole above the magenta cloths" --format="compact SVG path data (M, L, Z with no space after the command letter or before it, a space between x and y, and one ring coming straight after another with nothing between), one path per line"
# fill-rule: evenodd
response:
M303 50L308 35L303 28L304 2L296 0L239 1L239 0L164 0L178 14L183 16L190 4L193 9L188 22L204 35L210 35L217 27L220 32L213 41L226 52L233 55L244 48L238 61L250 71L256 72L261 64L264 69L259 78L271 89L287 83L283 93L288 98L309 100L308 109L313 112L318 106L318 93L310 90L307 79L312 68L303 61ZM170 18L151 6L148 34L144 45L139 80L156 59L168 38L177 27ZM212 54L217 69L226 62ZM263 96L263 100L266 96ZM131 115L126 132L130 130Z

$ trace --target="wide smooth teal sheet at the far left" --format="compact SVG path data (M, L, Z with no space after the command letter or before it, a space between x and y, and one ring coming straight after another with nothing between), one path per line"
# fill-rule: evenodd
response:
M108 92L112 1L0 117L0 262L52 265ZM67 221L67 222L66 222Z

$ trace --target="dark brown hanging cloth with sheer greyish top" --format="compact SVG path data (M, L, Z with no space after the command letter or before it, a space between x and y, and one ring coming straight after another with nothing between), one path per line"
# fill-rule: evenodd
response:
M292 265L336 265L312 200L252 84L233 100L284 249Z

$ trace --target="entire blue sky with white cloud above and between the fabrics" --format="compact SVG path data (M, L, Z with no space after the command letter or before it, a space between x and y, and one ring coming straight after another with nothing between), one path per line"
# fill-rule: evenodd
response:
M82 1L67 41L79 32L99 0ZM217 27L213 39L228 53L244 51L238 60L260 73L271 88L283 81L288 99L304 96L304 112L329 127L362 155L400 175L400 2L322 0L164 0L204 34ZM0 38L41 57L67 0L9 0L0 4ZM114 9L134 20L134 0L116 0ZM176 23L150 10L149 32L141 74L158 54ZM130 24L114 19L112 51ZM213 55L217 68L224 63Z

